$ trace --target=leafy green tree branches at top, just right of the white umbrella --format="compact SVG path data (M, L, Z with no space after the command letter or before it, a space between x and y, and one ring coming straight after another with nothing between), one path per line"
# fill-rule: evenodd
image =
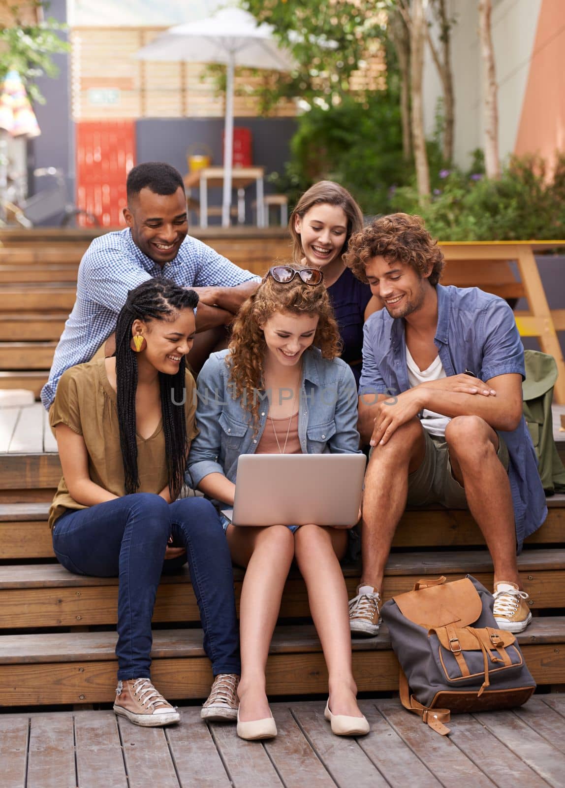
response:
M390 0L241 0L257 23L274 28L297 68L265 80L254 91L263 113L279 99L300 97L303 106L327 109L349 91L349 77L379 50Z

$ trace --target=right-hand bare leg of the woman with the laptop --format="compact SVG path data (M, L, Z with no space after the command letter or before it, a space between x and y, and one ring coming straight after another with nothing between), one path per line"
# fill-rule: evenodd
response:
M347 531L302 526L294 533L294 541L298 568L308 589L310 613L326 660L331 712L361 717L351 667L347 589L338 560L345 553Z

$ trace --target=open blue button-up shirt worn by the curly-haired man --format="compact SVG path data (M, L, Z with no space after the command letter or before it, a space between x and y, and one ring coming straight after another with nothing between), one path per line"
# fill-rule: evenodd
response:
M482 381L505 374L526 377L522 341L508 304L478 288L438 284L438 328L434 344L445 374L471 370ZM359 393L399 394L410 388L404 320L386 309L371 314L364 326L363 374ZM519 549L547 516L545 493L537 472L534 444L522 417L511 432L500 432L508 446L508 478Z

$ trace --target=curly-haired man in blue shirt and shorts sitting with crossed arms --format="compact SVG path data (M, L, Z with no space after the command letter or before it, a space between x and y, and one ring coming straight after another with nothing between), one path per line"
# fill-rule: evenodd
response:
M364 326L358 429L371 459L351 630L379 630L382 578L408 503L469 508L493 559L497 624L521 632L531 613L516 548L547 508L512 311L478 288L438 284L445 261L416 216L375 219L349 241L346 262L384 307Z

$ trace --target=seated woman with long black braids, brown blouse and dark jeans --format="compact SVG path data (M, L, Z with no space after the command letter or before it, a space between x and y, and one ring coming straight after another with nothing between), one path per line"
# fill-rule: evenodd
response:
M151 617L164 565L186 558L216 677L201 716L237 716L230 552L212 504L179 498L197 433L184 360L197 304L194 290L166 280L131 290L115 357L67 370L50 410L64 474L50 509L54 552L68 571L120 578L114 711L146 727L179 720L150 681Z

